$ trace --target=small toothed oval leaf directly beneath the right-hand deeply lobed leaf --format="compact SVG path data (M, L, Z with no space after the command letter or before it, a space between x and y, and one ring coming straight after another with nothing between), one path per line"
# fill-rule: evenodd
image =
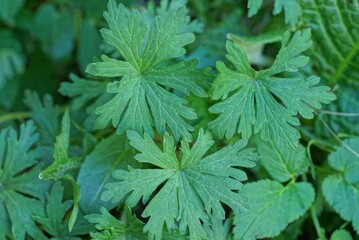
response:
M272 140L257 140L257 146L262 156L261 163L274 180L286 182L308 170L309 162L302 145L293 149L277 146Z

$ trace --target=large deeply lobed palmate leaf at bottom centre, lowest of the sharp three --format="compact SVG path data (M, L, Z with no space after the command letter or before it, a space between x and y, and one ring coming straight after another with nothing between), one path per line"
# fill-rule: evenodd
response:
M107 184L108 190L102 197L119 202L127 196L127 204L133 207L141 198L147 203L159 188L142 213L142 217L149 217L144 231L150 233L151 239L161 239L164 223L169 231L179 228L180 233L185 234L188 228L191 239L205 239L206 231L201 222L208 223L211 213L217 219L224 219L221 202L235 213L245 208L242 195L236 190L247 177L237 167L253 167L252 160L258 158L253 149L242 150L246 141L204 157L214 141L201 129L191 149L188 140L181 142L181 156L177 158L175 142L168 134L164 136L163 150L147 134L142 138L130 131L128 138L141 152L135 156L136 160L155 168L115 171L113 177L118 181Z

